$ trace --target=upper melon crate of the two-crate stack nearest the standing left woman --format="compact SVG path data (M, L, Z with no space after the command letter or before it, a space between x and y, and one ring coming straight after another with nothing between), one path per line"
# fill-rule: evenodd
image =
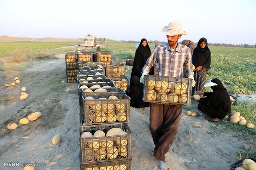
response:
M113 64L105 66L105 75L107 76L107 78L126 76L126 65Z

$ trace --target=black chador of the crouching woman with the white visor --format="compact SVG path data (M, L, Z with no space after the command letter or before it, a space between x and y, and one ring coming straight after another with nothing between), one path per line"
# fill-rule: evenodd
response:
M209 106L209 109L212 111L218 112L218 114L230 115L231 112L231 101L228 91L223 86L221 81L218 78L213 78L211 82L216 83L217 85L211 86L213 93L211 95L200 99L199 103L204 103Z

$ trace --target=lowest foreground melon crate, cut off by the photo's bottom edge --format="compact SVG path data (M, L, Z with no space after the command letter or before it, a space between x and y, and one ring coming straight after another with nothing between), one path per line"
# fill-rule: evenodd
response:
M81 163L81 154L79 152L80 170L131 170L132 159L122 161L108 161L98 163Z

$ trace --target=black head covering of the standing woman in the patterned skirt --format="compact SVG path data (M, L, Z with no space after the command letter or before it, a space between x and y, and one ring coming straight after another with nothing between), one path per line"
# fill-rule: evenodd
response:
M201 48L200 44L205 42L206 46ZM197 68L198 66L205 67L207 71L211 69L211 51L208 48L208 43L206 38L199 39L197 43L197 47L194 49L194 53L192 56L192 63L194 67Z

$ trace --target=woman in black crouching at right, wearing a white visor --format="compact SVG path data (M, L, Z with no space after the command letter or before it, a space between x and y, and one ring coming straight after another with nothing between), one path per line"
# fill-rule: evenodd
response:
M231 101L228 91L218 78L213 78L204 87L211 86L213 92L195 91L195 94L206 96L199 99L198 110L211 117L208 121L218 122L219 119L230 115ZM196 100L197 101L197 100Z

